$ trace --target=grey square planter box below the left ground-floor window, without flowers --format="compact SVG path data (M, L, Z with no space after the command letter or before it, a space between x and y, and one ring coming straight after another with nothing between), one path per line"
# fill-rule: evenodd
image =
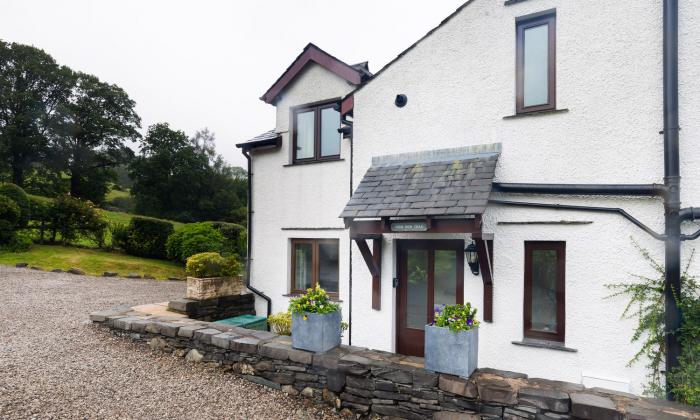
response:
M340 311L330 314L292 315L292 347L325 353L340 345Z

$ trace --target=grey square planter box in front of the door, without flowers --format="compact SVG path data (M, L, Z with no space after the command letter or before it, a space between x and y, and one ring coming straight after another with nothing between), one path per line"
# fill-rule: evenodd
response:
M479 328L452 332L449 328L425 326L425 368L468 378L476 369Z

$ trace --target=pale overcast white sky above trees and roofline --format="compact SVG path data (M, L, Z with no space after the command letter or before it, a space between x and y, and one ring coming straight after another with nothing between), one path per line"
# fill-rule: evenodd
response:
M235 143L274 127L258 98L313 42L377 71L464 0L0 0L0 39L124 88L143 131L208 127Z

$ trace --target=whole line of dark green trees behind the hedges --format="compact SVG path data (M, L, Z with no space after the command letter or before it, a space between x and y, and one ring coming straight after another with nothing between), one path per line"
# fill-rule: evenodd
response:
M189 137L159 123L142 137L140 128L136 102L121 87L0 40L0 181L96 204L116 183L131 188L133 198L121 199L144 215L245 220L246 172L216 153L214 133Z

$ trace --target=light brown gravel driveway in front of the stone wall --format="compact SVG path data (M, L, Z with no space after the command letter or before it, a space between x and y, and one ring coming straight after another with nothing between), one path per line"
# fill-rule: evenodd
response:
M0 266L0 418L334 416L302 398L153 352L86 323L93 311L184 293L181 282Z

